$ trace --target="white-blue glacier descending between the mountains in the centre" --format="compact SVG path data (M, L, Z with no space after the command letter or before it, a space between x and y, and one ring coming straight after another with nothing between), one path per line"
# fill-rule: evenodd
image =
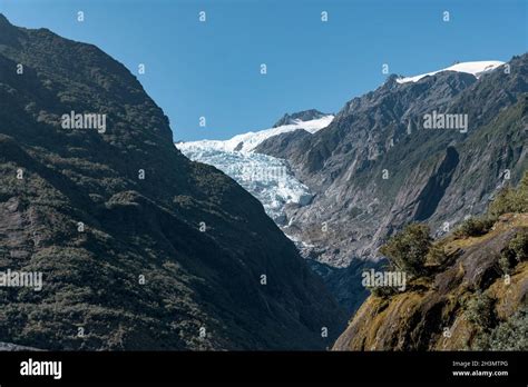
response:
M313 120L295 120L291 125L237 135L228 140L199 140L175 143L193 161L208 163L228 175L264 206L266 214L280 226L285 226L286 205L306 206L313 198L309 188L299 181L285 160L256 153L264 140L294 130L310 133L325 128L334 116Z

